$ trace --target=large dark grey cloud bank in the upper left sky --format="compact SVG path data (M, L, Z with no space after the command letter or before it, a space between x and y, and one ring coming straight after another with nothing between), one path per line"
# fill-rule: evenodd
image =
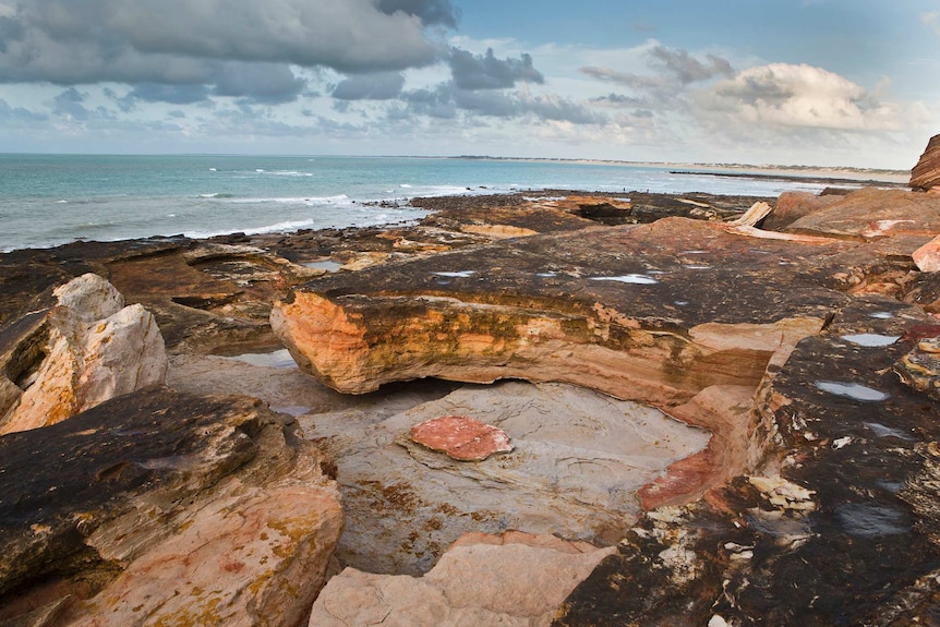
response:
M447 0L228 0L224 7L217 0L12 0L5 7L15 11L0 15L0 82L60 85L209 83L233 61L400 71L445 56L425 27L456 23Z

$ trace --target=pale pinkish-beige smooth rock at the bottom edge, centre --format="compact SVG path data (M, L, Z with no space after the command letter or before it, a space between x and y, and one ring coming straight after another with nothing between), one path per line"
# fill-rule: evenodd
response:
M311 627L547 626L570 590L615 551L519 533L471 542L458 542L421 578L347 568L314 603Z

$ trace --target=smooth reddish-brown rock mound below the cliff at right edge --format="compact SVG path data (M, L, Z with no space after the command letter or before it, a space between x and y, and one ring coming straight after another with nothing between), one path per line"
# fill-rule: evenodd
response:
M799 218L786 231L852 240L940 234L940 200L933 195L867 188Z

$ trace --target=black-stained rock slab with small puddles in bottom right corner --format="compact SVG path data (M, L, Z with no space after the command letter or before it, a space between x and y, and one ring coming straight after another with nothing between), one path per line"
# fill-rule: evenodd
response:
M938 328L895 301L844 308L758 408L779 470L650 511L555 625L936 624L940 403L894 370Z

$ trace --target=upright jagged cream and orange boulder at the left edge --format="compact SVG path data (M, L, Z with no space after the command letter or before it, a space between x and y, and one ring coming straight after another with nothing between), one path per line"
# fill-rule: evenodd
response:
M121 294L94 274L52 294L51 309L3 334L0 434L55 424L166 378L162 336L143 306L125 308Z

